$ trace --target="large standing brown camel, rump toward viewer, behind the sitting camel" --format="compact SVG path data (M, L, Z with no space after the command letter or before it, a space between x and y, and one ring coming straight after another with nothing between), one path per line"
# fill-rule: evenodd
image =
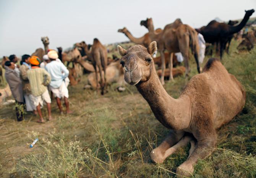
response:
M158 49L161 55L162 61L162 73L165 73L165 59L164 50L168 50L170 55L170 79L173 80L172 67L173 67L173 53L181 52L184 58L186 67L186 77L188 77L189 64L189 51L191 48L194 58L196 59L198 73L200 73L200 66L198 62L199 44L197 32L192 27L185 25L180 19L176 19L172 24L168 24L164 27L164 30L160 33L154 31L152 18L147 18L145 21L141 21L141 25L145 26L149 30L149 35L152 40L157 41ZM161 76L161 83L164 85L164 75Z

